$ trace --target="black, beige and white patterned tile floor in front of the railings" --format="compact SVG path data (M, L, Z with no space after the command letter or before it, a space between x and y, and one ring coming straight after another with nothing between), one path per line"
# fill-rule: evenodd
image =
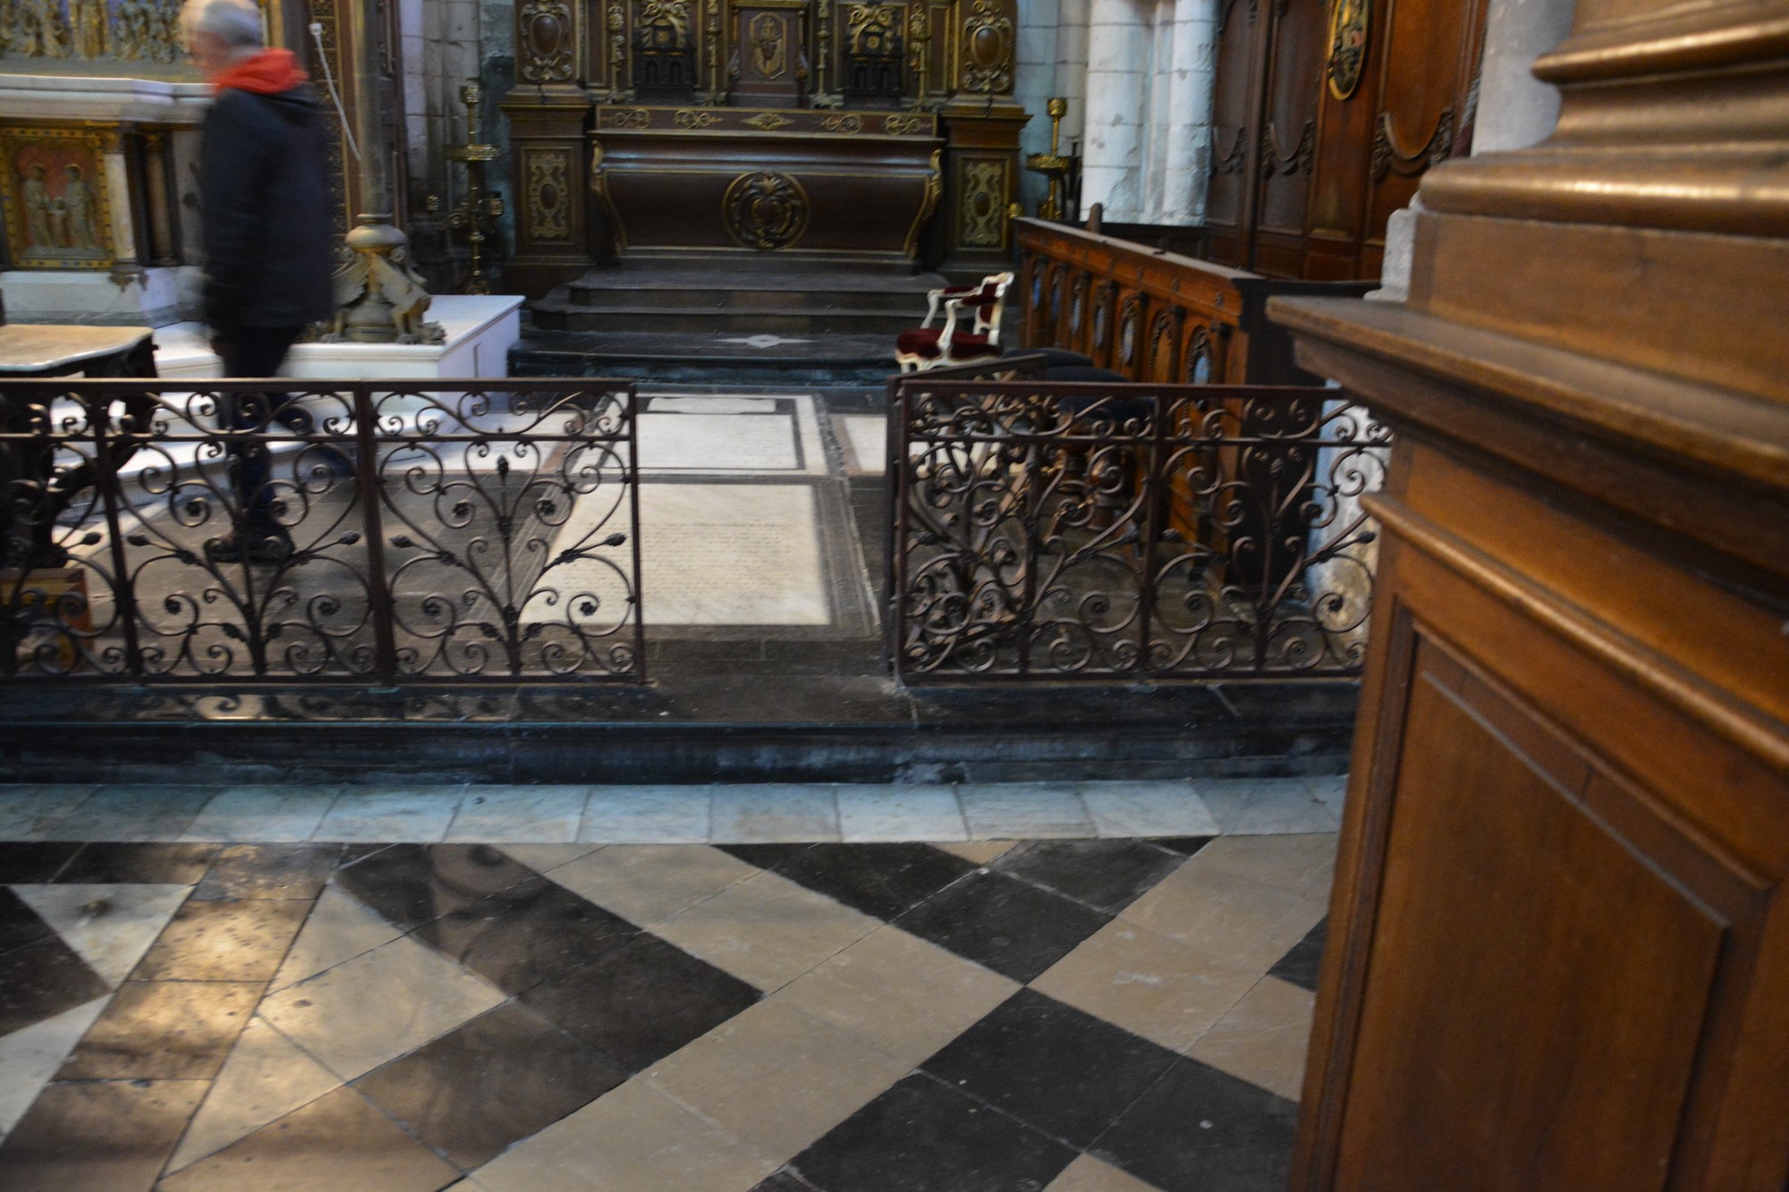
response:
M127 788L0 791L41 834L0 843L0 1187L1279 1188L1335 848L1293 813L1335 780L1277 782L1150 784L1204 830L1149 838L1088 830L1122 784L698 788L662 843L578 841L648 834L601 789L528 843L490 789L395 843L331 816L419 793L186 789L188 839L98 841ZM839 839L873 795L959 830ZM1056 838L970 839L1027 814Z

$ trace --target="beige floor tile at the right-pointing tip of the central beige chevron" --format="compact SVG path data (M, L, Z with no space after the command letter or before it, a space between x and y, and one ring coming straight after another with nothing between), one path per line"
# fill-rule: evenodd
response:
M936 943L882 927L780 990L775 1000L918 1065L1018 988Z

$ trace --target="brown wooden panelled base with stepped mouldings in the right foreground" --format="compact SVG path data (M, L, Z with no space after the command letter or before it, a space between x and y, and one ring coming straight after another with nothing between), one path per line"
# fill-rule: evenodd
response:
M1581 4L1408 304L1270 306L1397 433L1295 1188L1789 1187L1784 29Z

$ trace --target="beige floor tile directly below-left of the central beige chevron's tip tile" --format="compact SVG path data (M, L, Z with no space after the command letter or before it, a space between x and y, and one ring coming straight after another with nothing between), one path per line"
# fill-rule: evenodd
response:
M778 999L662 1060L653 1086L764 1154L793 1156L912 1070Z

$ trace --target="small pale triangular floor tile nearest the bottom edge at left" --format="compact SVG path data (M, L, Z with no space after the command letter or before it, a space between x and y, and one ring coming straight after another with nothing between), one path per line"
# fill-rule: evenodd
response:
M224 1069L188 1124L168 1171L197 1163L340 1085L335 1072L258 1015L224 1060Z

